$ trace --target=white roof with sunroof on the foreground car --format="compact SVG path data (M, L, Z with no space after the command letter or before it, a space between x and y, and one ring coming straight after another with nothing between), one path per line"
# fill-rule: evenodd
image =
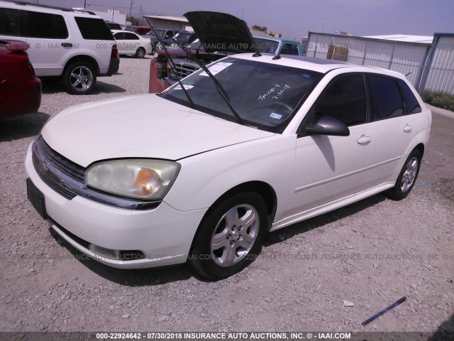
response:
M253 54L251 53L240 53L237 55L231 55L229 57L243 60L253 60L255 62L284 65L289 67L299 67L304 70L311 70L321 73L327 73L336 69L348 69L349 72L374 72L382 75L389 75L392 77L405 79L404 75L402 75L401 73L391 70L384 70L378 67L354 65L339 62L338 60L326 60L321 58L306 57L302 55L281 55L281 58L277 60L273 59L276 57L276 55L270 53L263 53L260 57L253 57Z

